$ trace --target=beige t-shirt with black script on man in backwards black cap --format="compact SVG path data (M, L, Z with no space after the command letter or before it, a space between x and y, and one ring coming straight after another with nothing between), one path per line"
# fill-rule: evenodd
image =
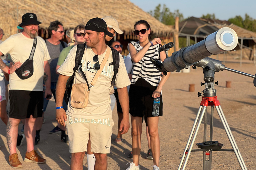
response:
M75 66L75 56L76 56L77 46L74 46L70 51L57 70L60 74L66 76L72 76L73 68ZM99 63L102 62L103 57L106 54L106 51L98 55L99 56ZM96 55L90 47L85 47L84 55L81 60L82 63L82 71L85 73L88 83L90 84L96 70L94 69L94 64L96 62L93 61L93 56ZM120 62L118 73L116 76L116 87L123 88L131 84L128 74L126 72L126 68L124 65L124 60L122 55L120 54ZM113 65L109 65L109 63L113 62L112 52L110 51L108 60L98 77L98 80L95 83L95 86L91 88L88 98L88 105L83 109L76 109L70 106L70 100L67 108L67 115L76 118L83 118L83 119L106 119L112 118L112 111L110 107L110 96L109 90L111 86L112 77L114 75L113 72ZM100 66L102 67L102 66ZM84 83L86 81L80 71L76 71L75 79L73 83Z

